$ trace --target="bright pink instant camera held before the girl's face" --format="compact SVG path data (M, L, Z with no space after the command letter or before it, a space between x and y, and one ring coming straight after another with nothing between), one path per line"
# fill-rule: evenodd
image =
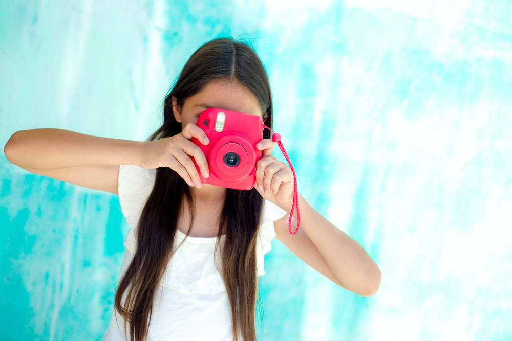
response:
M201 148L208 161L210 176L204 178L199 166L190 156L201 178L201 183L250 190L256 182L256 163L262 151L256 144L263 139L263 120L256 115L237 111L209 108L201 112L196 125L203 129L210 140L203 145L192 138Z

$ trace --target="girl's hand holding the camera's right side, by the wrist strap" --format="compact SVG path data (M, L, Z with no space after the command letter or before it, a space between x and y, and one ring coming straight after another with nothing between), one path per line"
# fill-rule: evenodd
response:
M261 147L258 145L261 144ZM277 206L291 210L293 202L293 172L284 162L272 156L274 142L263 139L256 145L262 157L256 163L256 182L254 188L261 196Z

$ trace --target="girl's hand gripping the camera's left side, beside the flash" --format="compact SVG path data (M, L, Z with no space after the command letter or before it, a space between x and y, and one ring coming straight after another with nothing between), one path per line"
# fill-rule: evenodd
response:
M146 169L169 167L190 186L201 188L199 173L188 155L194 156L203 177L209 176L208 162L201 148L190 141L193 137L204 145L210 143L206 133L192 123L188 123L181 133L172 137L144 142L138 166Z

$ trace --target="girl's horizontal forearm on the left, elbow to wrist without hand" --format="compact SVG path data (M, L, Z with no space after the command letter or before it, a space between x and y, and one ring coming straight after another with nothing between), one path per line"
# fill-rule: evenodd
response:
M144 142L100 138L63 129L15 132L4 147L7 159L25 169L88 165L138 165Z

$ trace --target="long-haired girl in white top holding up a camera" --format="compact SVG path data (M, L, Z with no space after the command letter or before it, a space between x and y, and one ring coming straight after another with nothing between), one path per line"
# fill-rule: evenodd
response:
M271 132L257 144L248 191L201 184L209 143L195 125L209 108L260 116L272 128L264 66L247 44L214 39L187 61L167 94L163 125L145 142L61 129L14 133L8 160L30 172L119 195L130 226L114 311L103 340L255 341L263 256L275 237L342 288L373 295L380 270L357 242L298 194L301 225L289 230L291 169L271 156ZM297 217L293 213L292 226Z

